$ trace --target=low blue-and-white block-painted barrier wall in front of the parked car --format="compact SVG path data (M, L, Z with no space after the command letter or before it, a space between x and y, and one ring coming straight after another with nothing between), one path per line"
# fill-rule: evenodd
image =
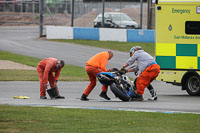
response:
M46 26L47 39L155 42L154 30Z

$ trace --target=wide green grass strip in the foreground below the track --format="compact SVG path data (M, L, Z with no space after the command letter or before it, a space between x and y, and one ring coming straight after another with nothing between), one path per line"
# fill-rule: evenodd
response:
M0 132L199 133L200 115L0 105Z

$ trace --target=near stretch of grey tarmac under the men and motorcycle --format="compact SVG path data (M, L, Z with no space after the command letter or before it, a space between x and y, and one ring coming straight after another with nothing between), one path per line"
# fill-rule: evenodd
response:
M39 83L31 81L8 81L0 82L0 104L28 105L28 106L52 106L60 108L84 108L84 109L105 109L105 110L126 110L146 111L163 113L196 113L200 114L199 97L191 97L179 87L163 82L154 81L153 86L158 94L157 101L148 101L150 97L148 90L145 90L143 102L122 102L108 90L110 101L99 97L101 84L97 86L88 96L89 101L81 101L80 96L89 82L58 82L60 94L65 99L39 98ZM15 99L14 96L28 96L30 99Z

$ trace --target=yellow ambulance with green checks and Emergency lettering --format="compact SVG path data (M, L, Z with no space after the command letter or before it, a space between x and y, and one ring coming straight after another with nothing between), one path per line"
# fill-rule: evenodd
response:
M159 81L200 95L200 0L153 0Z

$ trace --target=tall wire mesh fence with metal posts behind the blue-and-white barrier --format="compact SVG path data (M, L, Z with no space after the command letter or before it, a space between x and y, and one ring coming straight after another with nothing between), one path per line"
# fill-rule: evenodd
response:
M45 0L43 24L94 27L94 19L102 13L102 7L101 1L74 0L72 4L72 0ZM125 13L140 25L140 7L140 2L105 1L104 12ZM0 25L38 25L39 12L39 0L0 0ZM151 3L143 2L142 16L142 28L154 29L154 7Z

